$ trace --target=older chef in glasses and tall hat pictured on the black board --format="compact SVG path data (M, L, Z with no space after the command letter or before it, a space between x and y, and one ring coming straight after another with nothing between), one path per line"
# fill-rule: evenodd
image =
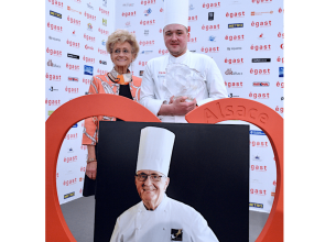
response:
M163 128L141 130L136 169L141 201L117 219L110 242L218 241L199 212L165 194L174 140Z

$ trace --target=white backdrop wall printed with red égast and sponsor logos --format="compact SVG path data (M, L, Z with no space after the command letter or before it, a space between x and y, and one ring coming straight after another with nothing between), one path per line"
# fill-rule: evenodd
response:
M124 29L137 36L140 53L131 66L136 76L143 75L149 59L167 55L163 2L46 0L46 119L61 105L85 95L93 75L111 69L105 43L115 30ZM283 1L275 0L189 0L188 15L188 50L215 59L229 97L259 101L282 117L283 11ZM82 197L87 156L82 145L83 124L69 129L59 152L55 174L59 204ZM275 186L271 143L251 124L250 209L270 212Z

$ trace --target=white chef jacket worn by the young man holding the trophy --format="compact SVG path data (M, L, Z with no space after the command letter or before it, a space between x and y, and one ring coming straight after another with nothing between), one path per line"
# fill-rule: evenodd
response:
M165 68L169 64L185 64L194 68L205 77L206 90L196 98L197 105L227 98L228 94L224 85L224 79L215 61L207 55L186 53L180 57L169 54L148 62L143 73L140 91L140 103L158 116L161 105L164 101L163 80L165 78ZM162 122L186 123L184 116L161 116Z

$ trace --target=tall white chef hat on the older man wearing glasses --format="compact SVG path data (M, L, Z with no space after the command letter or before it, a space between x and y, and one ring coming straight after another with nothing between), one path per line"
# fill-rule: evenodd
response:
M166 129L147 127L141 130L137 170L151 169L167 176L175 134Z

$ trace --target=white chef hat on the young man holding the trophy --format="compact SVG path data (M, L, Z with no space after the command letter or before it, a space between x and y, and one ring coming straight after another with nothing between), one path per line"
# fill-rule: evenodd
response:
M188 28L188 0L165 0L164 1L164 26L169 24L182 24Z

